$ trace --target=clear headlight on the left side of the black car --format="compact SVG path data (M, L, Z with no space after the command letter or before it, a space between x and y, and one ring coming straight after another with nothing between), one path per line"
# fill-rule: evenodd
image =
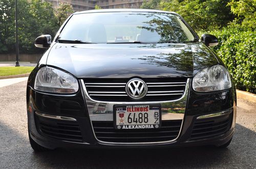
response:
M54 93L74 93L78 91L78 82L72 75L53 67L38 70L35 89Z

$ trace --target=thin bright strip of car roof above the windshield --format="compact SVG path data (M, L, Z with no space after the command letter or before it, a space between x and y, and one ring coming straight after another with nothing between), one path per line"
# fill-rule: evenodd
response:
M101 13L101 12L156 12L156 13L173 13L173 14L177 14L175 12L153 10L153 9L97 9L97 10L88 10L88 11L75 12L74 14Z

